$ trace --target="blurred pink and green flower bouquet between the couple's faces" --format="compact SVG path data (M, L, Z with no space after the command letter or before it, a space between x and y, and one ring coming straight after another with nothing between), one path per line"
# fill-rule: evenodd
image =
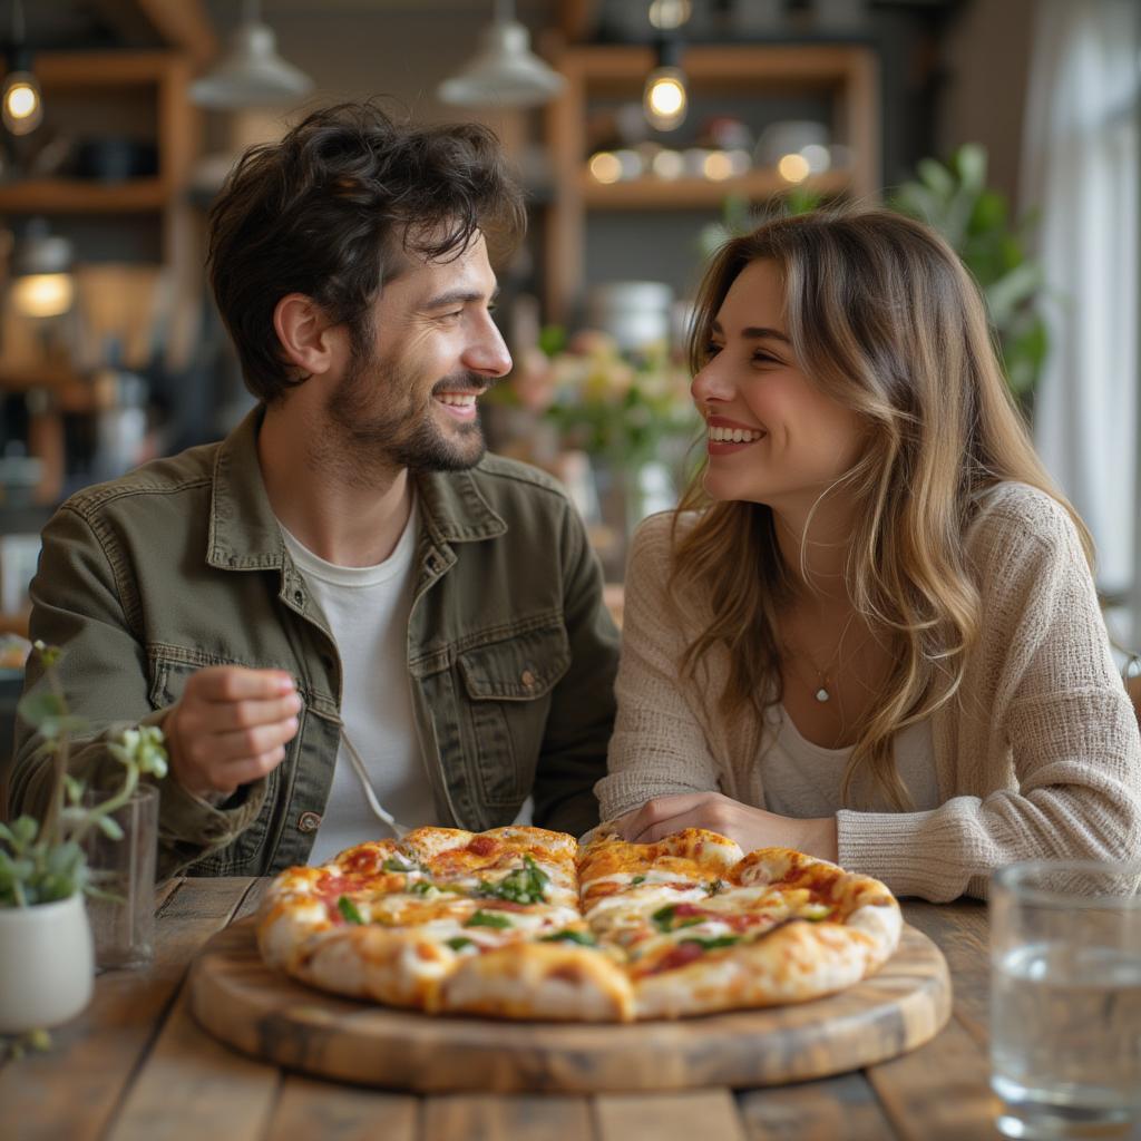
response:
M659 458L663 444L687 439L697 427L689 371L664 341L630 353L608 333L568 338L548 326L539 346L521 355L511 388L556 426L565 448L628 469Z

